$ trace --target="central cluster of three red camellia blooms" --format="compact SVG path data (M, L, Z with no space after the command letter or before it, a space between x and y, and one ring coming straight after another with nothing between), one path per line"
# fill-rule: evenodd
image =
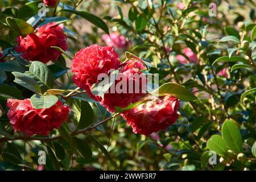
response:
M101 73L110 74L110 69L118 69L118 76L115 78L114 85L119 82L126 82L126 88L122 88L122 92L118 92L116 88L111 92L112 87L101 96L94 96L91 92L93 84L99 82L98 75ZM146 77L142 70L146 67L141 60L129 59L121 64L117 53L111 47L101 47L92 45L82 48L76 53L72 72L75 73L73 81L77 86L85 89L90 97L96 101L100 101L110 112L114 112L116 107L127 107L129 104L138 102L146 95ZM138 77L135 77L136 75ZM131 82L133 81L133 82ZM135 92L138 84L137 92ZM113 85L112 85L113 86ZM132 88L132 92L129 89ZM160 97L139 105L133 109L122 113L122 117L133 127L134 133L149 135L153 132L164 130L172 125L178 118L177 109L179 109L179 100L173 96Z

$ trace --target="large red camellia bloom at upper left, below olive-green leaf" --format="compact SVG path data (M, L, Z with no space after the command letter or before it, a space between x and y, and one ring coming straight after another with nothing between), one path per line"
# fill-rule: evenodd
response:
M36 29L36 33L28 34L26 38L19 36L15 50L22 52L22 57L30 61L42 61L47 63L50 60L57 61L61 52L51 46L57 46L66 51L68 44L67 36L63 33L63 24L51 22Z

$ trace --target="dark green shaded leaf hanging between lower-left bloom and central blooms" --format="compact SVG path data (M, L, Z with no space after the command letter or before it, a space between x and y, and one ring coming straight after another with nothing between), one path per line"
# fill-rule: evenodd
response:
M81 117L75 130L84 129L92 124L94 118L92 107L88 102L81 101Z

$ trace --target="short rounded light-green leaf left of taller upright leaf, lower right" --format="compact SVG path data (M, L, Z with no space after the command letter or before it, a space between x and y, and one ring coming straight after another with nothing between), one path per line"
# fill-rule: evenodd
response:
M207 141L207 148L216 151L219 155L225 155L228 152L228 147L220 135L212 135Z

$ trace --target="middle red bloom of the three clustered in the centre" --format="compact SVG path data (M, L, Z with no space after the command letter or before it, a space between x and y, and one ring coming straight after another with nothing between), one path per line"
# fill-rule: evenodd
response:
M116 106L127 107L129 104L141 100L146 93L147 84L146 76L141 69L146 69L141 61L126 61L119 69L119 74L115 79L114 92L112 93L110 88L109 92L104 94L101 105L105 106L108 111L114 112Z

